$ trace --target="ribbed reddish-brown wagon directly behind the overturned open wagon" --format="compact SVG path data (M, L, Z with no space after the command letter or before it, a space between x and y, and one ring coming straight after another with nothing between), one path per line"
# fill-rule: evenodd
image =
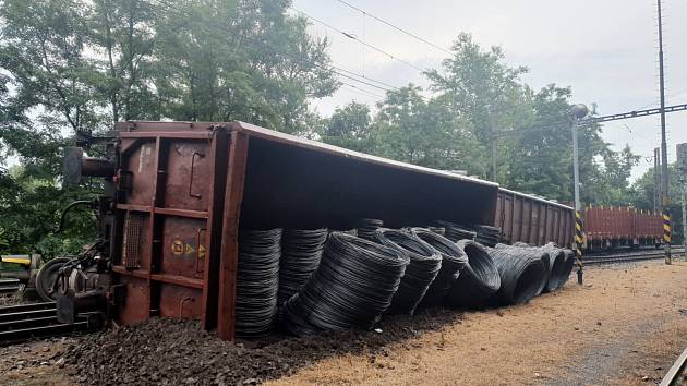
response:
M537 196L498 189L494 225L503 242L571 246L575 209Z

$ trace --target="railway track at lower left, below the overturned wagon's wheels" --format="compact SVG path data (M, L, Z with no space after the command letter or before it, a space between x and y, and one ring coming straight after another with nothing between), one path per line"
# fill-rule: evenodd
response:
M0 306L0 347L35 338L50 338L91 331L103 326L96 314L79 315L74 324L57 319L55 303Z

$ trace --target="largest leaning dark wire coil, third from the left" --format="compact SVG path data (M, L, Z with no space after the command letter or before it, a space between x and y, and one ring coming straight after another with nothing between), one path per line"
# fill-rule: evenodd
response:
M372 328L391 303L409 262L400 250L330 233L320 267L285 304L285 327L296 335Z

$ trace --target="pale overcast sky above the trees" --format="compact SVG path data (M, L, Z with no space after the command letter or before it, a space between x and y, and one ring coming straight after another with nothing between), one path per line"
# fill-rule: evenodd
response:
M600 114L659 105L656 4L654 0L347 0L370 14L449 48L460 32L484 47L501 45L513 65L530 69L523 80L534 88L549 83L570 86L575 102L598 104ZM437 68L445 52L414 40L336 0L294 0L293 7L419 68ZM687 1L664 2L666 106L687 102ZM418 70L313 22L311 33L332 39L335 65L403 86L426 86ZM352 81L346 81L355 84ZM367 93L384 92L360 85ZM355 99L381 99L343 86L332 98L314 101L328 116ZM675 144L687 142L687 111L666 116L668 157ZM604 138L615 148L629 144L644 157L634 178L652 165L660 144L659 116L616 121L604 126Z

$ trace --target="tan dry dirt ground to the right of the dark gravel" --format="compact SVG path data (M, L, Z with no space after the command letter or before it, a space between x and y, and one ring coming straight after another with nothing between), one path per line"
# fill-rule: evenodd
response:
M467 313L388 355L342 355L272 385L647 385L687 347L687 263L588 268L586 285Z

